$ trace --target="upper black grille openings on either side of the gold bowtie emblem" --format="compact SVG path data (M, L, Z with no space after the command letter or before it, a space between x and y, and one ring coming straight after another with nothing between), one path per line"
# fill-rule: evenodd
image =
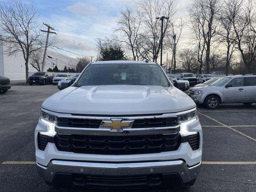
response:
M176 126L176 120L177 118L136 119L132 128ZM57 125L60 127L99 128L101 122L102 120L96 119L58 118Z

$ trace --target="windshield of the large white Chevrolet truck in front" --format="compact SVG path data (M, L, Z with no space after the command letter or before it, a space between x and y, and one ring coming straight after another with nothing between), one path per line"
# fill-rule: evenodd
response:
M86 85L169 85L156 64L90 64L76 86Z

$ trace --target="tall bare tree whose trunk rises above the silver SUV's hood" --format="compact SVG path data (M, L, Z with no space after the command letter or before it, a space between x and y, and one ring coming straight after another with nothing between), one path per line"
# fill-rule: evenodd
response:
M192 29L197 36L198 47L200 45L198 53L203 55L202 47L205 49L206 71L209 73L210 46L219 24L217 17L220 12L219 0L192 0L192 4L187 9Z

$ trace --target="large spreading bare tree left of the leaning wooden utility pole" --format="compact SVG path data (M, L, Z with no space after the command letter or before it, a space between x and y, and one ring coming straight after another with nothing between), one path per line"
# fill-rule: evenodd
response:
M0 2L2 41L6 45L8 55L22 53L26 78L28 78L29 56L39 50L43 42L37 23L38 16L33 2L26 3L22 0Z

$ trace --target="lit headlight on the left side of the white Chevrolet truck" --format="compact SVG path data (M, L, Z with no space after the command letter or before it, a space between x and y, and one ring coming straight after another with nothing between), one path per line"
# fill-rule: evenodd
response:
M40 120L48 126L47 132L40 132L40 134L54 136L57 117L41 111Z

